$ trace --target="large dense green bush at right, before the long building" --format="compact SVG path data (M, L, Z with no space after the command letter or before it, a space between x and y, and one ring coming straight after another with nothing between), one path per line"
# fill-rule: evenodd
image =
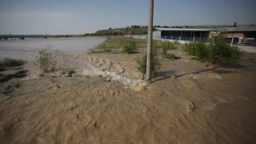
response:
M212 40L209 42L190 42L186 45L185 50L200 61L214 64L235 62L241 56L238 47L226 43L224 34L214 38L214 42Z

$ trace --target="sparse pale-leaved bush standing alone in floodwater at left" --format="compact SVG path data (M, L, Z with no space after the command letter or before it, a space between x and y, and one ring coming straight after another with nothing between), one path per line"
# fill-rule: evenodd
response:
M43 73L52 72L56 69L56 61L52 54L46 52L46 50L42 50L38 52L39 58L35 62L35 65L42 70Z

